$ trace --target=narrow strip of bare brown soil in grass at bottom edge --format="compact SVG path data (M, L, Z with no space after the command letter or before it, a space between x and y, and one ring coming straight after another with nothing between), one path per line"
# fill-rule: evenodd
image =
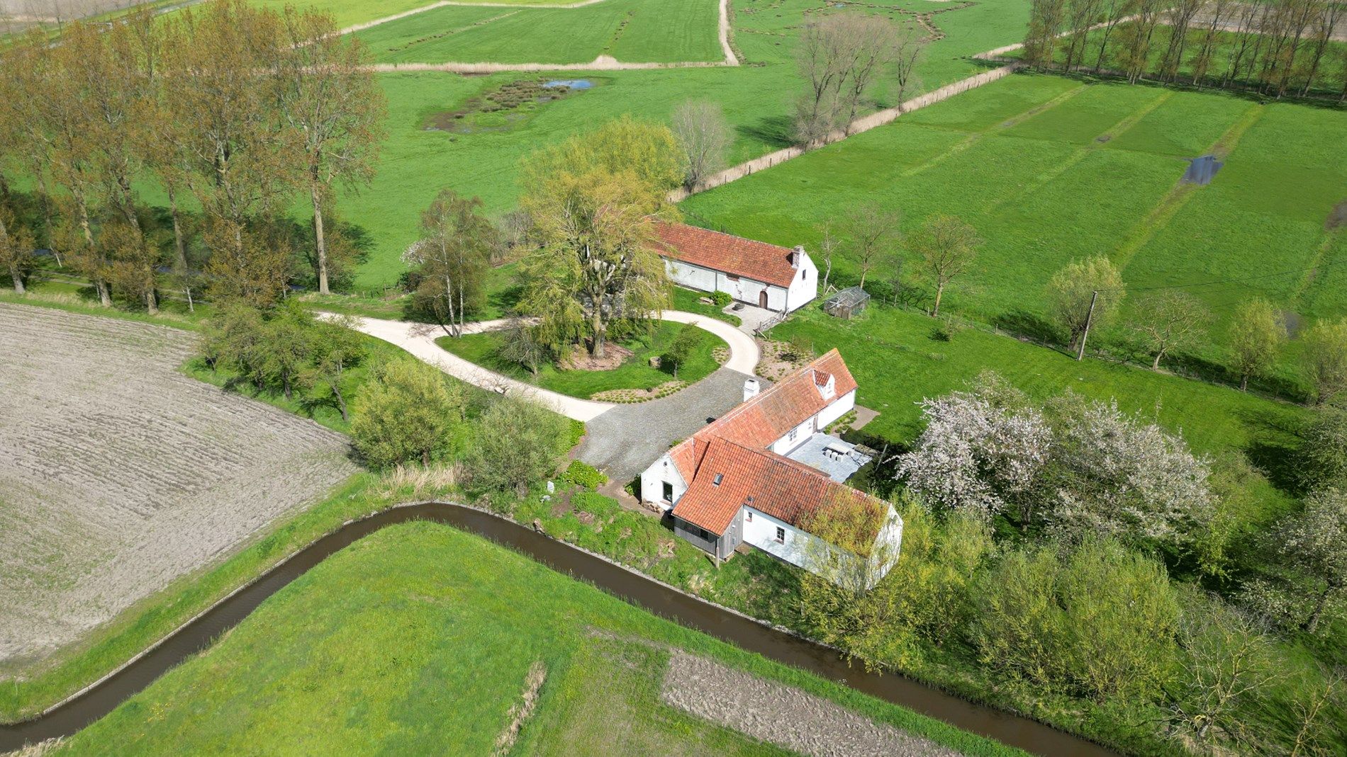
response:
M812 757L958 757L959 752L799 688L674 652L660 699L745 735Z

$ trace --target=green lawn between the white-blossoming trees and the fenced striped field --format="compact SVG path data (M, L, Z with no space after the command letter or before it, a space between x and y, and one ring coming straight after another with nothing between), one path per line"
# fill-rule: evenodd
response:
M1199 453L1247 454L1266 477L1250 485L1254 504L1241 514L1245 531L1265 526L1294 504L1277 485L1285 487L1294 475L1297 434L1308 418L1303 406L1125 363L1076 362L979 328L964 328L942 342L935 327L931 317L901 309L872 307L846 321L806 308L769 336L804 339L820 351L841 350L859 385L857 402L880 413L862 430L876 437L870 444L916 440L924 429L921 399L964 389L979 372L991 370L1036 401L1068 390L1114 399L1122 410L1181 433Z

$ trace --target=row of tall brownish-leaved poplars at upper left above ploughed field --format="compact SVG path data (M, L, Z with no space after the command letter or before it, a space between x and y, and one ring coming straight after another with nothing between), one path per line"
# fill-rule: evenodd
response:
M302 198L329 293L327 214L338 187L372 177L384 112L364 48L326 13L211 0L66 24L54 42L34 31L0 48L0 272L22 289L43 245L105 307L116 290L156 311L166 272L189 297L195 284L267 305L294 276L284 229Z

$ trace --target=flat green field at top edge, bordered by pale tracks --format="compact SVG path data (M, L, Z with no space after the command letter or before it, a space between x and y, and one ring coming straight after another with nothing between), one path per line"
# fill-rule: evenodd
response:
M719 0L605 0L582 8L446 5L357 32L380 63L722 61Z

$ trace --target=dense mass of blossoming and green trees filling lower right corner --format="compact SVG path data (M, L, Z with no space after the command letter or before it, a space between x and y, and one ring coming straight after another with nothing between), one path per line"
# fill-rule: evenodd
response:
M1154 740L1144 752L1340 748L1343 675L1296 679L1285 641L1336 633L1347 610L1343 405L1307 434L1305 507L1257 538L1266 566L1231 557L1250 549L1242 454L1195 454L1070 391L1032 402L990 372L923 414L894 467L898 562L867 592L801 574L814 635L866 664L952 668L1030 713L1095 702L1134 748Z

